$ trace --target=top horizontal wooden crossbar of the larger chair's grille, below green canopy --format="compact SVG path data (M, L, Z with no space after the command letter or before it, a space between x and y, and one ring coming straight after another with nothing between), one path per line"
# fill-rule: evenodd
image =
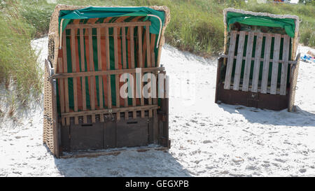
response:
M111 22L111 23L86 23L86 24L67 24L66 29L92 29L102 27L138 27L151 25L151 22Z

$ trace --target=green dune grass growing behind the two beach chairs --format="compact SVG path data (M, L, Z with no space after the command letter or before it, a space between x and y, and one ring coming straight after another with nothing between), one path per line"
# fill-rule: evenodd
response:
M22 1L25 2L25 1ZM223 9L241 8L255 12L297 15L301 19L300 43L315 46L314 4L257 3L256 0L118 0L74 1L57 3L90 6L165 5L171 10L171 22L165 32L167 43L197 55L211 56L223 48ZM35 36L46 34L50 15L56 3L45 0L22 3L21 14L36 29Z

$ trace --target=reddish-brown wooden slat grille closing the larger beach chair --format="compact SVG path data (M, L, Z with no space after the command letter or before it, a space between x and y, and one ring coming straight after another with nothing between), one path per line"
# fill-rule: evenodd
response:
M87 24L86 27L84 24L68 24L67 28L71 31L70 35L66 35L64 31L62 48L63 48L63 57L58 59L59 63L59 73L80 73L79 75L69 75L59 78L59 97L62 113L62 125L70 125L70 118L74 118L75 124L78 124L80 117L83 117L83 123L87 123L87 115L92 116L92 122L96 122L96 115L100 115L99 120L104 122L104 115L102 113L112 113L116 111L117 120L120 120L120 112L125 113L125 119L129 117L129 111L126 108L130 108L133 118L137 118L137 111L140 111L141 118L144 118L145 111L148 111L148 116L152 117L153 112L155 112L158 99L148 98L148 102L144 101L144 95L142 94L142 89L144 84L140 83L140 93L139 103L141 106L137 106L137 97L136 97L136 72L132 72L132 77L134 77L134 85L132 86L131 91L134 97L132 98L132 106L128 104L128 98L124 99L124 108L120 108L120 75L121 73L97 73L92 76L85 75L85 73L94 73L97 71L109 71L111 70L111 51L113 51L115 63L115 70L120 69L136 69L137 67L144 67L145 63L148 68L153 69L155 66L155 52L154 44L155 35L150 34L150 25L151 22L132 22L131 24ZM144 28L145 27L145 28ZM92 34L96 28L96 34ZM109 34L109 28L113 29L113 34ZM126 34L127 29L127 34ZM134 29L137 29L137 36L134 35ZM145 29L145 31L144 31ZM104 30L104 31L103 31ZM144 39L143 39L144 35ZM66 38L70 38L70 50L71 50L71 67L72 71L68 71L67 64L67 54L66 52ZM104 39L105 38L105 39ZM111 50L109 41L110 38L113 39L114 48ZM137 41L134 41L134 39ZM80 40L79 40L80 39ZM93 46L93 39L97 40L97 67L98 70L94 69L94 51L95 45ZM121 40L121 41L120 41ZM128 40L128 41L127 41ZM76 47L79 41L80 47ZM104 47L102 46L104 42ZM121 44L120 44L121 43ZM136 44L137 43L137 44ZM121 51L118 50L121 45ZM137 45L137 64L136 58L134 57L134 46ZM86 48L85 48L86 47ZM68 47L69 48L69 47ZM103 49L104 48L104 49ZM128 58L127 58L128 50ZM102 52L105 52L105 56L102 56ZM121 55L120 55L121 52ZM106 59L104 59L106 57ZM121 59L120 59L121 57ZM79 60L78 60L79 59ZM102 60L104 59L104 60ZM130 60L130 61L129 61ZM64 62L64 64L62 64ZM78 62L78 65L76 64ZM79 63L80 62L80 63ZM106 67L105 64L106 63ZM128 66L127 66L128 62ZM87 64L87 66L85 65ZM96 64L96 63L95 63ZM120 65L121 64L121 65ZM121 67L120 67L121 66ZM80 69L79 69L80 67ZM86 68L87 67L87 68ZM85 70L87 69L87 72ZM149 70L141 71L141 78L144 72L149 72ZM154 75L158 71L153 71ZM58 73L57 73L58 74ZM111 75L115 76L116 84L116 107L112 108L112 96L111 96ZM69 109L69 87L68 80L73 78L73 111ZM87 82L86 82L87 80ZM105 82L106 80L106 82ZM98 86L97 86L98 83ZM148 81L151 83L151 80ZM157 83L157 82L156 82ZM88 85L88 95L87 87ZM104 87L103 87L104 85ZM103 89L106 87L106 96L104 96ZM157 85L151 86L151 88L156 88ZM98 90L97 90L98 89ZM104 89L105 90L105 89ZM149 94L151 89L148 90ZM90 97L90 109L87 109L86 99L87 96ZM97 99L96 99L97 98ZM107 99L106 99L107 98ZM78 103L78 101L83 101L83 103ZM146 100L147 101L147 100ZM97 103L99 102L99 103ZM146 104L148 106L146 106ZM107 108L104 108L107 106ZM105 112L106 111L106 112ZM69 113L76 113L71 115ZM155 113L156 114L156 113Z

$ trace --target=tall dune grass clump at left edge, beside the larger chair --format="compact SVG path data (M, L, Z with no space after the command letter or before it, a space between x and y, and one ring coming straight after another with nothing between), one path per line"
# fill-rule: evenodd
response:
M1 99L10 106L27 106L42 92L42 71L30 44L35 29L20 15L14 1L0 8L0 84L6 87Z

